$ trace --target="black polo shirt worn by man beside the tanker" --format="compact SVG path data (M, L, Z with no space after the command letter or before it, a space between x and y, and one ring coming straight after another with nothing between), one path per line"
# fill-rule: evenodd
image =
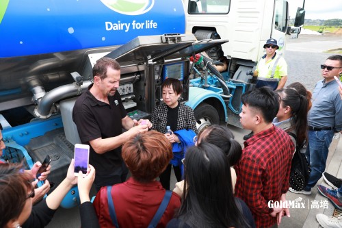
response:
M116 92L108 97L109 105L98 101L89 89L83 92L75 102L73 121L77 126L79 138L83 144L90 145L89 141L96 138L110 138L122 134L121 120L127 116L122 105L120 94ZM89 163L96 169L96 175L113 173L122 166L121 147L98 154L90 146Z

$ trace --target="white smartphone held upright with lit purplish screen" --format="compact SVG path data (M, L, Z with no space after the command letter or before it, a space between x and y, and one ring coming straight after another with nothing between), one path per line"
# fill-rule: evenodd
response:
M83 173L83 177L86 176L88 165L89 165L89 149L90 149L89 145L75 144L75 153L74 153L75 176L79 175L80 170Z

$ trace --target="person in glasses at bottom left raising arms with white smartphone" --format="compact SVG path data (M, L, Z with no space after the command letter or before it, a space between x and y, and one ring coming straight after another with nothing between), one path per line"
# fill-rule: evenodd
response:
M74 160L71 160L66 178L46 199L33 205L35 195L31 175L23 172L23 164L0 164L0 227L45 227L49 224L60 203L69 190L79 181L82 227L97 228L98 220L89 199L89 191L94 181L94 167L89 166L87 177L74 175ZM82 216L83 215L83 216Z

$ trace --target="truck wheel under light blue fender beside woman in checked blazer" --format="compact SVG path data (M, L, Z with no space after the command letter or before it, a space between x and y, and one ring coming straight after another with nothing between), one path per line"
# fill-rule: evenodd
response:
M209 125L220 124L218 111L215 110L215 107L207 103L198 105L194 110L194 115L197 121L196 127L198 134Z

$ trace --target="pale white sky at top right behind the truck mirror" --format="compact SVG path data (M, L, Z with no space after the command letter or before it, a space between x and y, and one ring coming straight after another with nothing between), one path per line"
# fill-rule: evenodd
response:
M295 12L298 6L303 6L302 0L288 0L290 18L295 18ZM306 19L342 19L342 1L341 0L305 0L305 18Z

